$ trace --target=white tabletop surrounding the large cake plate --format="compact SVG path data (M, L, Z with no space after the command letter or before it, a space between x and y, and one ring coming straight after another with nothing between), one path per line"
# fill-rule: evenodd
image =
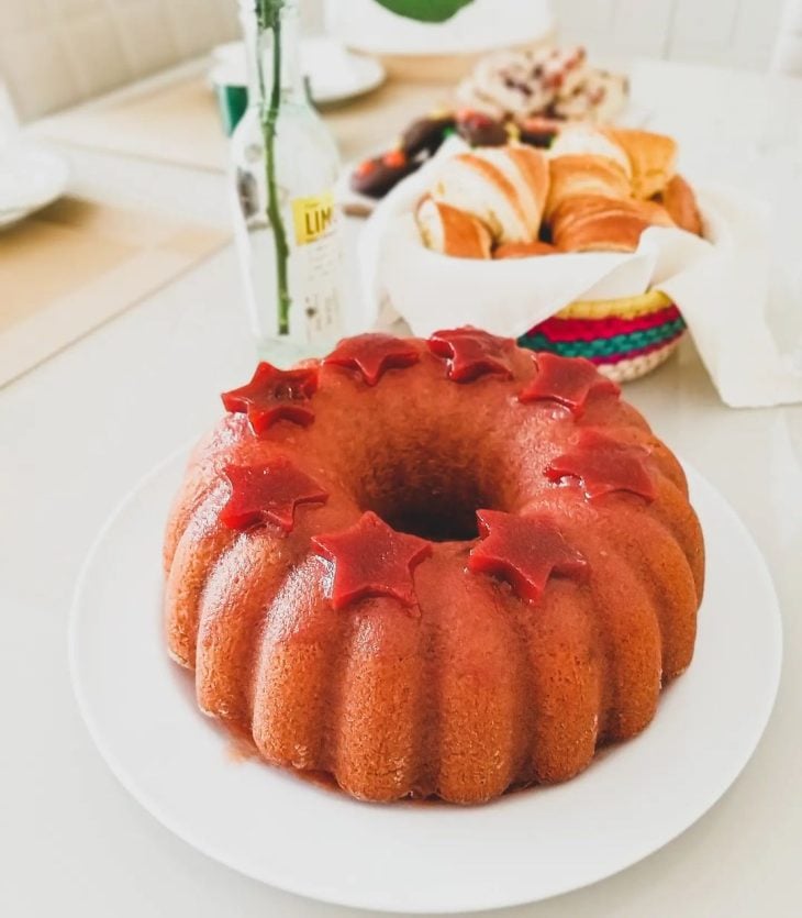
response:
M787 214L802 212L802 158L787 157L802 153L794 146L802 81L644 64L635 86L653 100L651 123L678 135L695 174L744 181ZM226 220L222 176L86 151L70 157L77 191L158 200L168 210ZM788 251L792 241L782 241ZM797 277L800 241L797 229ZM365 914L261 886L174 838L112 777L69 684L70 596L99 527L148 469L219 416L218 392L252 369L238 283L229 248L0 390L0 915L9 918ZM724 408L690 344L626 396L721 489L762 548L784 617L780 694L742 777L681 838L588 889L498 914L795 916L802 909L802 406ZM692 749L677 755L693 767Z

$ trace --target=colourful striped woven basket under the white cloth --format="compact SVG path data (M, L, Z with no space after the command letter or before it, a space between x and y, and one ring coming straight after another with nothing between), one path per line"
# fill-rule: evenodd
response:
M575 302L519 339L522 347L586 357L616 383L645 376L673 353L686 323L659 290L616 300Z

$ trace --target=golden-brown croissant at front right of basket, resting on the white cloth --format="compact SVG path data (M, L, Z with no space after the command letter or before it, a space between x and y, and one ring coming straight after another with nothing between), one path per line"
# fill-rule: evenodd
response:
M649 226L673 226L654 201L612 200L599 195L566 199L554 214L552 236L566 252L634 252Z

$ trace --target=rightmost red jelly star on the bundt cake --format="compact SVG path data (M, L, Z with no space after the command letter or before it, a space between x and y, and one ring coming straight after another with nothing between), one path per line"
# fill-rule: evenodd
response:
M558 456L546 469L553 482L578 478L590 500L615 491L628 491L653 501L657 496L655 483L646 466L648 450L619 443L609 436L586 430L579 443Z

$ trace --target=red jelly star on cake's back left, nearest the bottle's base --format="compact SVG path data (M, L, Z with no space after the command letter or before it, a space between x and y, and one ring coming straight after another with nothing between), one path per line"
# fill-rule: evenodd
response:
M318 390L318 367L278 369L260 363L247 386L223 392L226 411L248 416L254 433L264 433L276 421L293 421L307 427L314 420L309 405Z

